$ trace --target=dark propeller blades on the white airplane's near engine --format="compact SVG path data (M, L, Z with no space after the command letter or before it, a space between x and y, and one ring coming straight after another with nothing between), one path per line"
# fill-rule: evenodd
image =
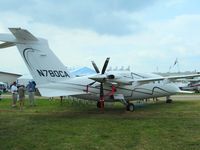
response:
M110 60L110 58L108 57L108 58L106 58L106 60L104 62L103 68L101 70L101 74L102 75L106 72L106 68L108 66L109 60ZM99 69L98 69L98 67L97 67L97 65L95 64L94 61L92 61L92 65L93 65L96 73L100 73L100 71L99 71ZM104 88L103 88L103 81L100 84L100 92L99 92L99 94L100 94L100 101L99 101L100 102L100 108L101 108L101 110L103 110L103 108L104 108Z

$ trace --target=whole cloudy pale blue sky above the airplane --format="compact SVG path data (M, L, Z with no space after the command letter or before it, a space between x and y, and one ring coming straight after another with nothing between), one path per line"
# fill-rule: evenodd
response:
M180 71L200 71L199 6L199 0L6 0L0 32L22 27L48 39L69 67L92 67L91 60L102 66L111 57L113 68L166 72L178 58ZM0 57L1 70L28 72L15 47Z

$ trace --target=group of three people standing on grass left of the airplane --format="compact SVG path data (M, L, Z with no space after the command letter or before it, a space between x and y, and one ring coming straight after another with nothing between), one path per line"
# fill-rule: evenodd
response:
M26 87L24 85L17 85L16 82L13 82L13 84L10 87L10 91L12 93L12 107L16 107L18 100L20 110L23 110L26 91L28 93L29 105L36 106L34 98L36 91L36 83L34 81L29 81Z

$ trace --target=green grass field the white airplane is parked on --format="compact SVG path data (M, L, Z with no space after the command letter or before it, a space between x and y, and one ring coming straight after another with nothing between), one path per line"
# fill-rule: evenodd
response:
M200 149L198 100L138 104L135 112L115 104L104 113L44 99L20 111L10 101L0 101L0 150Z

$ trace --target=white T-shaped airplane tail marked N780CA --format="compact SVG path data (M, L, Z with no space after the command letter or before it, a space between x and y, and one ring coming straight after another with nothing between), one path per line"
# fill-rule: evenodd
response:
M0 48L17 46L37 84L47 84L70 78L67 68L50 50L45 39L36 38L21 28L9 28L12 35L0 34Z

